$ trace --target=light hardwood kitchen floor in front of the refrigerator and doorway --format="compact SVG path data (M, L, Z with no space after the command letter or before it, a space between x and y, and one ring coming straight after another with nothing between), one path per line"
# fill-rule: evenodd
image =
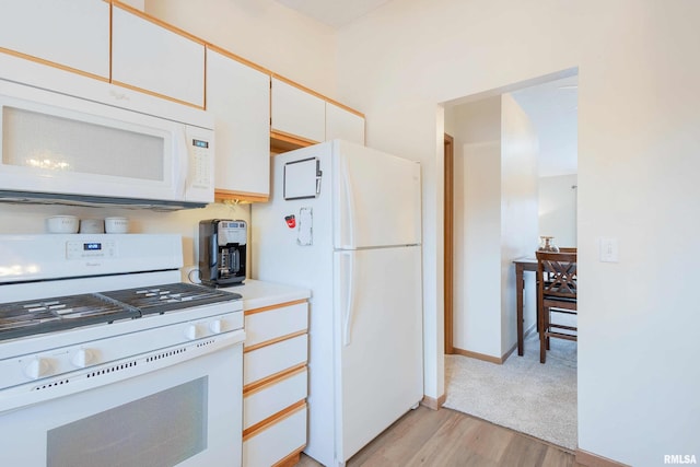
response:
M296 464L319 465L304 454ZM583 467L561 447L455 410L422 406L396 421L347 466Z

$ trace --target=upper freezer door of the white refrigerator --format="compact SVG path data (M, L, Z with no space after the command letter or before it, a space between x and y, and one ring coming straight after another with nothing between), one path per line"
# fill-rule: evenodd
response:
M355 249L420 243L420 164L337 141L334 246Z

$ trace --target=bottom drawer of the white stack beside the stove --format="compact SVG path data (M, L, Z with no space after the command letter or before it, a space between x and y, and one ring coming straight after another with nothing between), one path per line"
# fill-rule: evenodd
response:
M306 405L243 437L243 465L269 467L306 445Z

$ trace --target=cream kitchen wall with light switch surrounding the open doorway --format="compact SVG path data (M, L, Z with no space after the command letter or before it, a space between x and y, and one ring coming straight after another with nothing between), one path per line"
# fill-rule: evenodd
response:
M635 466L698 453L698 17L696 0L396 0L341 30L338 91L369 144L423 165L429 395L444 388L435 108L578 67L579 446ZM600 236L618 264L598 262Z

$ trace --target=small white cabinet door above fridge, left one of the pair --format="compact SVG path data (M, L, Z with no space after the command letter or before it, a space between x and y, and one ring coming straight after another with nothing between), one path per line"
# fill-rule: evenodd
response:
M272 78L272 130L310 142L326 140L326 102Z

